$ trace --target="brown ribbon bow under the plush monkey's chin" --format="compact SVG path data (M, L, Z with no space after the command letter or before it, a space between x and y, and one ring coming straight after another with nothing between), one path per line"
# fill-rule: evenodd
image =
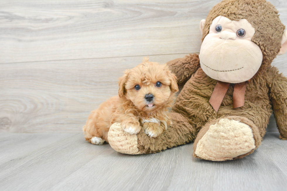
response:
M248 80L250 81L250 80ZM212 92L212 95L209 99L209 103L213 109L217 112L223 98L228 90L230 83L217 81L215 88ZM244 106L244 97L246 90L246 82L234 84L233 90L233 108L238 108Z

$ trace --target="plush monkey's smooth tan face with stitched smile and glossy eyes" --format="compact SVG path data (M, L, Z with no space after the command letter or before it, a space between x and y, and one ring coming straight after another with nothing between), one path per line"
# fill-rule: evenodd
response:
M199 59L209 77L229 83L251 79L261 66L261 49L251 41L255 29L246 20L218 16L204 38Z

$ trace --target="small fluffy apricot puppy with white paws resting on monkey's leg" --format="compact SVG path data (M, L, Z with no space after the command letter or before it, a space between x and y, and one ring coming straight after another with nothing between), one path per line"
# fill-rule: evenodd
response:
M83 127L86 140L97 145L108 142L108 131L115 122L129 134L143 128L149 136L157 137L172 123L169 108L177 91L176 76L168 66L144 58L119 78L119 95L92 111Z

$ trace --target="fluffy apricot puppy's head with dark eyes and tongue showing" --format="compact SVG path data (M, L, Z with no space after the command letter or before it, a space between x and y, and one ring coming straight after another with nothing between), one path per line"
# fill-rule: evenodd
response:
M176 76L168 66L144 61L125 71L120 78L119 96L131 100L142 111L153 111L167 104L178 91Z

